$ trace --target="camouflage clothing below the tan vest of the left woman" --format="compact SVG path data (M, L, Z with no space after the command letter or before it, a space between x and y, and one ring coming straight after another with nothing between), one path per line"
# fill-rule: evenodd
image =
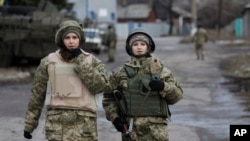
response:
M81 110L48 110L45 135L49 141L97 141L96 115Z

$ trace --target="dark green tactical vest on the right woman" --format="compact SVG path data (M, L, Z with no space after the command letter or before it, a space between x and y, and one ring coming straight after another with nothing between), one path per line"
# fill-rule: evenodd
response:
M134 116L152 116L152 117L169 117L169 109L167 101L159 95L157 91L150 91L148 84L152 79L159 79L162 68L156 74L147 73L139 74L136 69L125 65L125 72L128 76L128 88L122 93L122 106L125 115ZM148 95L144 103L145 96ZM138 111L143 103L143 108Z

